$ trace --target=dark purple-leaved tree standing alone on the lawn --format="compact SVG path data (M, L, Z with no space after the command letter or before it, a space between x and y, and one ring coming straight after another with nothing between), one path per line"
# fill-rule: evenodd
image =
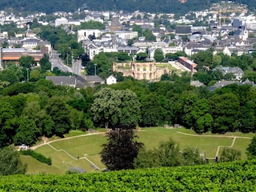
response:
M102 162L109 170L134 169L134 158L143 147L142 142L135 140L133 130L111 130L106 134L107 142L103 144Z

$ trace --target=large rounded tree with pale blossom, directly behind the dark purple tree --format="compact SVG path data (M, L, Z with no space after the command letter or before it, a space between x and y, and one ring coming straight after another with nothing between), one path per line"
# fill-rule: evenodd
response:
M140 103L130 90L104 88L94 94L91 106L94 121L106 128L135 127L140 121Z

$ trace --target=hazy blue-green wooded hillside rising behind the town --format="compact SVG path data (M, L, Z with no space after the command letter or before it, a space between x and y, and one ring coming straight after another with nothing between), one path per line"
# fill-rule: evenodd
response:
M0 10L14 9L16 11L42 11L51 14L54 11L72 11L78 10L79 7L86 7L89 10L125 10L133 12L135 10L151 13L179 13L184 14L189 10L207 9L211 3L220 2L218 0L187 0L182 3L178 0L87 0L86 5L81 0L2 0ZM256 2L254 0L234 0L247 4L251 10L254 10Z

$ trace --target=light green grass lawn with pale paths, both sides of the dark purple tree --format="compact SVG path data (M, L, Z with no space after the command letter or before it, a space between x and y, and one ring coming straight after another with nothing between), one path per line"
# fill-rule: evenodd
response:
M65 140L51 141L50 145L38 147L35 151L52 159L52 165L47 166L28 156L22 156L22 162L27 163L27 174L64 174L71 167L79 167L86 172L96 171L92 164L100 170L105 166L100 161L99 152L102 144L106 142L104 133L85 134L82 131L72 130L66 135ZM227 133L227 134L195 134L193 130L166 129L163 127L142 128L136 132L138 141L143 142L146 149L157 148L159 142L173 138L178 142L181 150L186 147L198 147L201 152L206 152L206 158L214 158L218 146L231 146L234 136L236 138L234 149L242 152L242 159L246 159L246 148L254 134ZM72 138L77 136L77 138ZM227 137L229 136L229 137ZM221 151L221 150L220 150Z

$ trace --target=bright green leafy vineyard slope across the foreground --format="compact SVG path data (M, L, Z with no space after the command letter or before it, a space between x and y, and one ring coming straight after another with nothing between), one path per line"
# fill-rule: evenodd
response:
M256 161L95 174L13 175L0 191L255 191Z

